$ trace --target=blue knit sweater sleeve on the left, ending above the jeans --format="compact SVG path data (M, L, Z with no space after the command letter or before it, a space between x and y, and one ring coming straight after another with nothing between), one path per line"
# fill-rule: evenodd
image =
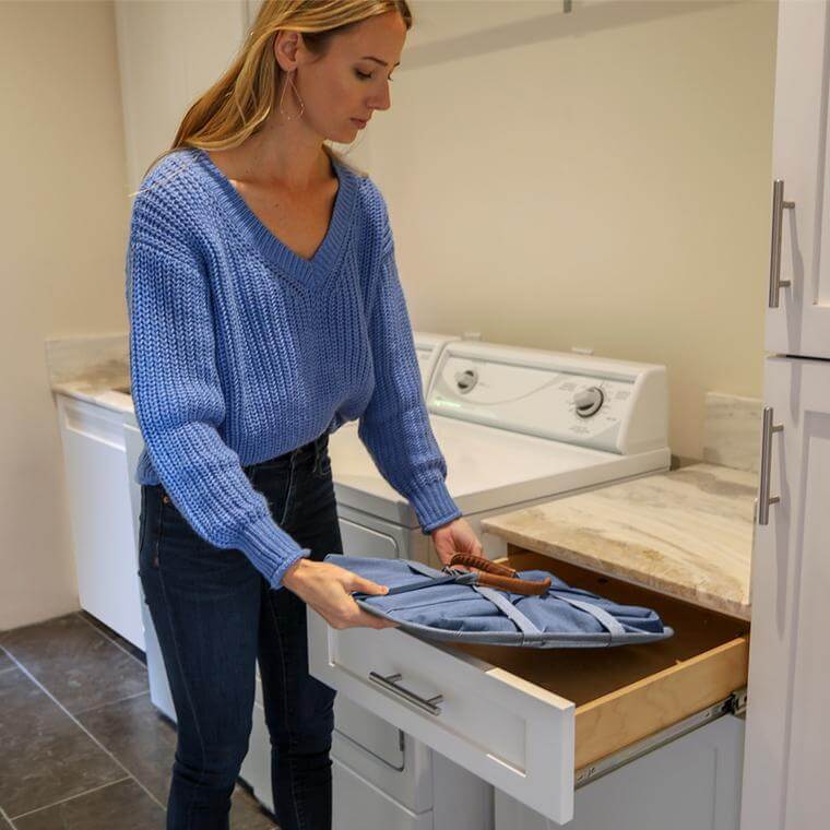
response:
M214 361L211 295L201 258L167 235L134 229L127 252L130 377L135 417L158 478L193 530L238 548L272 588L308 556L274 522L218 427L225 400Z

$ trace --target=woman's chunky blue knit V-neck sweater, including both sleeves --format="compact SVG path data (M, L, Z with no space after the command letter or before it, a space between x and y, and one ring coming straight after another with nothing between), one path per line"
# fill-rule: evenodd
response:
M359 418L358 435L424 533L459 517L429 425L382 194L332 157L327 236L307 260L202 150L178 150L135 198L127 252L130 374L144 437L135 481L269 584L308 556L242 467Z

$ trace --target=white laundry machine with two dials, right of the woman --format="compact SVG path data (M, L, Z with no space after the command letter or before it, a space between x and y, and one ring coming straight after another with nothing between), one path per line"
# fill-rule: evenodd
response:
M487 515L669 466L662 366L456 341L438 354L426 399L449 490L479 537ZM437 565L355 424L331 437L330 454L345 553ZM500 540L482 541L489 557L506 553ZM336 792L349 791L335 802L336 830L490 827L489 785L342 696L333 756ZM459 803L475 809L452 815ZM358 804L372 809L360 815Z

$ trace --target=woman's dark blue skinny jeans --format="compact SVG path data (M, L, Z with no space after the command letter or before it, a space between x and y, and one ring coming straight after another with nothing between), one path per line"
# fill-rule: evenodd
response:
M311 559L343 553L328 436L246 467ZM139 572L178 720L168 830L226 830L260 666L282 830L331 827L334 691L308 674L306 606L248 558L205 542L162 485L142 487Z

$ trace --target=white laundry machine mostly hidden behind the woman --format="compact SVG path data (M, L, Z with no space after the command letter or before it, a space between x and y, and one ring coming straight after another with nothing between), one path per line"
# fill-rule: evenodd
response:
M447 343L460 340L456 335L439 334L436 332L415 332L415 352L418 357L422 382L424 389L429 384L435 367L438 363L441 349ZM354 427L353 424L344 425L341 429ZM124 416L123 442L127 451L127 470L132 507L133 540L138 552L139 540L139 514L141 511L141 487L134 482L135 469L139 456L144 449L144 440L141 436L134 413ZM348 532L348 527L345 527ZM138 553L135 556L138 568ZM147 659L147 677L150 683L150 699L153 704L171 721L176 721L176 710L173 704L170 687L167 681L167 673L162 659L155 627L150 616L143 592L141 595L141 619L143 622L143 639ZM271 744L265 726L264 710L262 708L262 687L257 674L257 698L253 710L253 728L251 732L250 749L242 764L241 778L252 787L254 795L273 811L271 793ZM379 815L383 815L382 811Z

